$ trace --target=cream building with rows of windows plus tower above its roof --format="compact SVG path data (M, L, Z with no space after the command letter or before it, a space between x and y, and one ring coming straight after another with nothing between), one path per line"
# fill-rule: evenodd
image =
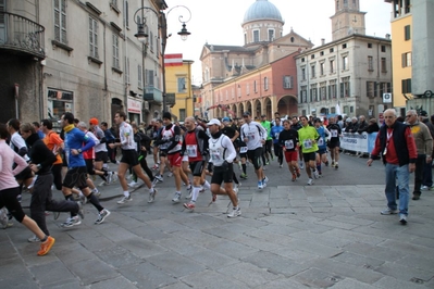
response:
M300 115L379 117L392 106L390 39L364 35L359 1L335 0L333 41L296 56Z

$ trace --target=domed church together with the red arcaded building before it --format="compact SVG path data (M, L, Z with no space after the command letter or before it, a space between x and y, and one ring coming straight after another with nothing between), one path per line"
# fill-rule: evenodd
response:
M220 117L231 112L240 116L243 111L270 116L276 111L297 113L294 53L313 45L294 30L283 35L284 24L273 3L257 0L241 23L244 46L203 46L202 116Z

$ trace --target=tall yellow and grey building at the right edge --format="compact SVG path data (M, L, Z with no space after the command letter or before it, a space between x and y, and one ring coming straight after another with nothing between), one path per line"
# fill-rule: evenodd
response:
M392 4L394 106L434 113L434 1L385 0Z

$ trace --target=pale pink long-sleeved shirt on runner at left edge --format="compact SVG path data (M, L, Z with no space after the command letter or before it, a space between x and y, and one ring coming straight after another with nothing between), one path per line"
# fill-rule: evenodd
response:
M17 166L12 169L13 163ZM0 190L18 187L15 175L26 168L27 162L0 139Z

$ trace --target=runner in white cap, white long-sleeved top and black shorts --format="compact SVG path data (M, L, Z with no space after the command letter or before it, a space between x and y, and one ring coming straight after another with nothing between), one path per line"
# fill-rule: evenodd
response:
M214 165L214 172L211 178L211 192L216 194L227 194L231 199L233 210L227 217L237 217L241 215L241 209L238 206L238 198L233 189L232 177L234 175L233 161L236 156L236 150L231 139L220 130L222 124L213 118L208 124L211 138L208 140L210 158ZM260 155L259 155L260 156ZM224 183L224 188L221 187Z

